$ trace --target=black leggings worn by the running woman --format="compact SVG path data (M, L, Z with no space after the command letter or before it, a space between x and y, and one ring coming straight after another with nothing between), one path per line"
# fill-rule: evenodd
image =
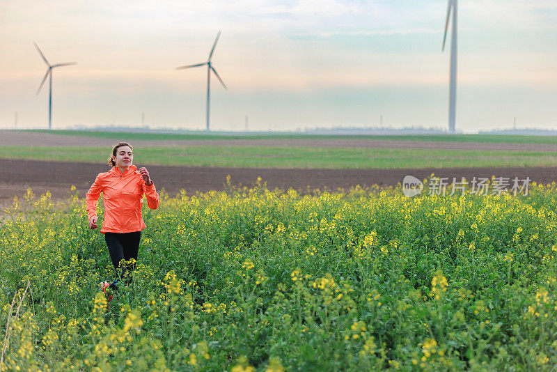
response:
M122 268L121 276L124 277L126 270L134 270L135 262L137 261L137 251L139 251L139 240L141 239L141 231L135 233L105 233L104 240L109 247L110 258L114 270L116 270L116 277L120 275L118 268ZM120 261L130 261L134 259L133 264L120 264Z

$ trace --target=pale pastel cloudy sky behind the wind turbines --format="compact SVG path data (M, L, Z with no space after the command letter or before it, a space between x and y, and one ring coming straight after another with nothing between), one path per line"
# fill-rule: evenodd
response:
M446 1L0 0L0 128L448 127ZM460 0L457 131L557 129L557 1ZM448 40L450 42L450 40Z

